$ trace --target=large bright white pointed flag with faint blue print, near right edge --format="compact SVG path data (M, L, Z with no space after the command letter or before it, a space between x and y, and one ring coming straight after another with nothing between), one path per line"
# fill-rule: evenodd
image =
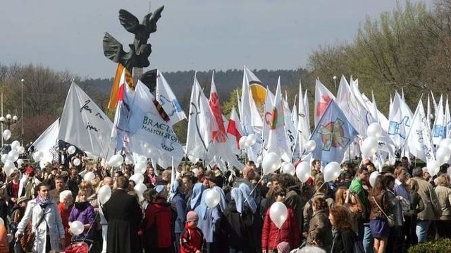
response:
M428 163L435 160L435 151L431 140L431 132L428 127L429 118L424 113L423 101L419 100L416 106L412 126L409 135L407 135L404 146L407 146L409 152L417 159L421 159Z

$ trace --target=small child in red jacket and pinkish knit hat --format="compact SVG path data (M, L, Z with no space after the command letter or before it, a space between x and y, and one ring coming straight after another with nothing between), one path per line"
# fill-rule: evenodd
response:
M180 253L201 253L204 246L204 234L197 228L199 216L195 211L186 215L185 229L180 235Z

